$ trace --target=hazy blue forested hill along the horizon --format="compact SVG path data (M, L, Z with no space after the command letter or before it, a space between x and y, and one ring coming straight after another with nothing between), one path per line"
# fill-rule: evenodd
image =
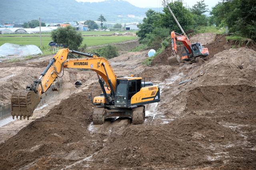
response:
M100 14L112 22L142 21L147 10L123 0L93 3L75 0L1 0L0 23L25 22L38 19L39 16L44 22L54 23L96 20Z

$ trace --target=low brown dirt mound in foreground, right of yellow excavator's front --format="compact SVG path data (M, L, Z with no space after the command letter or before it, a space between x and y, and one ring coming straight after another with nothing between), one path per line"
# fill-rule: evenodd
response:
M213 163L206 156L214 155L205 149L209 140L225 145L236 137L240 138L232 130L207 118L186 117L157 127L130 126L122 135L111 135L106 147L94 157L94 162L114 169L195 168Z

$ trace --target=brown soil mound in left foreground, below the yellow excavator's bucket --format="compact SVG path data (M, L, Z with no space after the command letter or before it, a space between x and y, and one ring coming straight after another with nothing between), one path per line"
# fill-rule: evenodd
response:
M16 169L28 162L34 168L42 168L44 164L50 168L52 163L56 166L58 162L72 162L79 155L93 152L93 141L86 128L92 121L94 106L87 100L87 95L82 92L62 100L46 117L36 119L2 143L0 160L5 166L0 169ZM74 155L70 155L72 153ZM58 158L48 160L52 155L58 155ZM63 158L65 156L66 159ZM34 165L33 162L38 163Z

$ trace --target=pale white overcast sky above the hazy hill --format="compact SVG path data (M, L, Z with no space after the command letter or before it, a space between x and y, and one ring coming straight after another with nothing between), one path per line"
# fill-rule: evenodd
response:
M76 0L80 2L100 2L104 0ZM133 4L134 6L146 8L146 7L162 7L162 0L125 0ZM170 0L171 1L171 0ZM183 0L183 2L189 6L192 7L194 4L196 4L197 1L200 0ZM218 3L219 0L204 0L205 4L208 5L208 8L211 10L215 4Z

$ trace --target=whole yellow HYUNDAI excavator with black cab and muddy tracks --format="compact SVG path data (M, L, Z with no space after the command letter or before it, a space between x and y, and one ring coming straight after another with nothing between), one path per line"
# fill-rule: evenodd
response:
M68 53L82 55L85 58L67 59ZM160 102L160 88L152 82L143 82L141 77L117 77L110 63L97 53L60 49L42 72L38 80L24 91L12 94L12 117L29 119L39 104L41 96L58 77L64 74L64 68L84 68L95 71L102 89L100 96L92 97L97 107L93 113L93 124L102 124L109 117L129 117L133 124L141 124L145 117L145 104ZM62 75L60 75L62 74ZM102 81L102 79L104 81ZM106 82L107 88L104 86ZM79 83L78 83L79 84Z

